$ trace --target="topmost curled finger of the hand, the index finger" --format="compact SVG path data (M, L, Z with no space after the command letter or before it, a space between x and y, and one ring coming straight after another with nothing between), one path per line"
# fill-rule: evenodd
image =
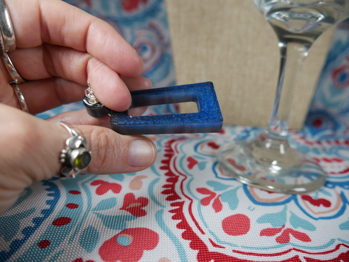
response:
M16 46L50 43L85 51L126 77L142 73L134 48L108 23L60 0L7 0ZM25 8L23 8L25 6Z

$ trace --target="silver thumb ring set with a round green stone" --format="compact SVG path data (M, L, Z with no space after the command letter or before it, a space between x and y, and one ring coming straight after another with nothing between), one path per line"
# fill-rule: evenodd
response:
M88 150L86 138L79 129L74 129L66 122L57 123L65 127L71 135L66 140L65 149L60 154L60 162L63 164L61 177L75 178L91 163L91 151Z

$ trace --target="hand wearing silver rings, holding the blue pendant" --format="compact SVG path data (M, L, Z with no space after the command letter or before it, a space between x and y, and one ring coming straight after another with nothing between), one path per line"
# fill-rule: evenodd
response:
M141 58L109 24L58 0L7 0L16 49L8 52L29 112L36 114L82 100L87 82L98 100L115 111L131 105L129 90L149 89ZM25 6L25 8L23 8ZM57 121L81 130L92 152L85 173L136 172L156 158L153 142L108 129L109 117L86 110L38 119L20 108L7 68L0 71L0 213L32 181L59 174L59 155L70 134ZM17 108L15 108L17 107Z

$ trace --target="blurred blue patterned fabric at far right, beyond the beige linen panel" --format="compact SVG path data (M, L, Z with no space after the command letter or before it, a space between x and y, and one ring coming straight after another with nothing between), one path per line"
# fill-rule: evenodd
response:
M307 126L341 131L349 127L349 19L333 35L306 119Z

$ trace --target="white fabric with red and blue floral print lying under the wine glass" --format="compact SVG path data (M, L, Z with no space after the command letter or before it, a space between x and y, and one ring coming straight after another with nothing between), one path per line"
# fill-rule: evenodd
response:
M147 170L34 183L0 217L0 261L349 261L349 135L292 132L328 175L315 192L285 195L217 164L220 145L260 131L150 135L158 158Z

